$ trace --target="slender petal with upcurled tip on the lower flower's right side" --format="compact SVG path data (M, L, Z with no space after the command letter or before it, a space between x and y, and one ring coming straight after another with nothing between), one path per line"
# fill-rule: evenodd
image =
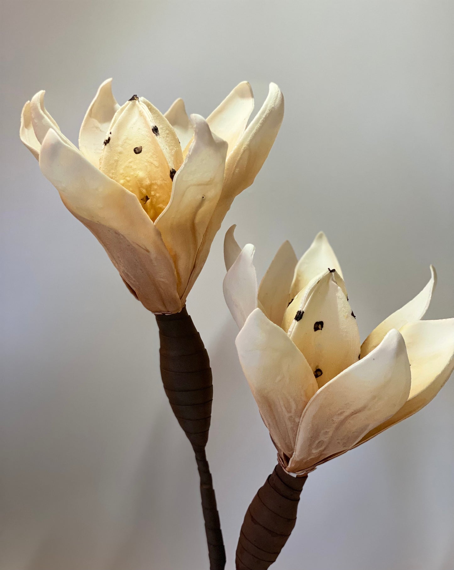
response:
M388 316L387 319L380 323L370 335L364 340L361 346L361 358L366 356L371 350L380 344L384 336L392 328L400 330L407 323L412 323L422 319L425 312L429 308L433 291L437 284L437 274L435 267L430 266L431 278L424 289L416 295L414 299L409 301L406 305Z

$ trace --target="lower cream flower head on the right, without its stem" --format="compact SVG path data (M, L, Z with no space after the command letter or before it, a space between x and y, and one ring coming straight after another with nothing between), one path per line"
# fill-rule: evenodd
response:
M242 369L282 467L305 474L423 408L454 368L454 319L421 321L436 284L360 344L339 262L322 232L298 261L283 243L260 286L232 226L224 295Z

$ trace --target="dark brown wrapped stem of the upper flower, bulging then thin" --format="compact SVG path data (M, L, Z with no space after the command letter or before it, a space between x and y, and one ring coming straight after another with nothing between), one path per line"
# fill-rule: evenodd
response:
M210 570L224 570L224 541L205 455L213 401L208 353L186 307L175 315L156 315L156 321L164 390L196 455Z

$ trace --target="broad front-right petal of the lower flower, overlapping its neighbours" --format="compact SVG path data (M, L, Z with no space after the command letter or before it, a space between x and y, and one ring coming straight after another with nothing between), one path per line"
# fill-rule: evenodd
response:
M402 408L410 393L410 363L395 329L364 359L319 389L299 422L289 471L297 473L350 449Z

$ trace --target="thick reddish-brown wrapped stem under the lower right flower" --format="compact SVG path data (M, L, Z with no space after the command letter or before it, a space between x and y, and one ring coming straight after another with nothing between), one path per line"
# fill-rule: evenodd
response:
M280 465L252 499L238 540L237 570L266 570L281 553L297 522L306 477L291 477Z

